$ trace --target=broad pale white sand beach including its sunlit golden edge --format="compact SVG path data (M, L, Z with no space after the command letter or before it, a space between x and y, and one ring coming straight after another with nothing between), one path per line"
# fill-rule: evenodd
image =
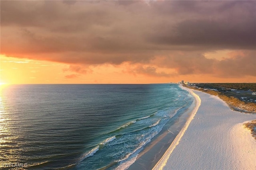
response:
M185 89L195 93L200 106L154 169L256 170L256 141L243 127L256 115L232 111L217 96Z

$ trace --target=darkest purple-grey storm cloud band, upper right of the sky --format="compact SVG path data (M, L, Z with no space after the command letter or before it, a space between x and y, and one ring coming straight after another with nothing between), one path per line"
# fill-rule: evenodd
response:
M254 49L256 23L253 18L232 20L186 20L171 30L162 30L151 40L161 44L191 45L194 49L199 46L209 49Z

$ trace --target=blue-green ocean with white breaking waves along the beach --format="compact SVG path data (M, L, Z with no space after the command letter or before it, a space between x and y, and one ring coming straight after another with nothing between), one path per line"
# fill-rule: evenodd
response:
M0 167L126 169L193 101L178 84L9 85Z

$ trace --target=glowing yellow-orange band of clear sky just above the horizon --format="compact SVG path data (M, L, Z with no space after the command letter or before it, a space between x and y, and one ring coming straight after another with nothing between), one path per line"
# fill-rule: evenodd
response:
M215 55L215 53L206 55L214 58L210 55ZM155 62L162 61L159 59ZM164 73L169 73L170 76ZM179 75L175 74L174 68L159 68L142 63L79 65L0 55L1 89L9 84L152 84L179 82L180 80L235 83L255 82L255 78L255 76L248 75L243 78L216 77L207 73Z

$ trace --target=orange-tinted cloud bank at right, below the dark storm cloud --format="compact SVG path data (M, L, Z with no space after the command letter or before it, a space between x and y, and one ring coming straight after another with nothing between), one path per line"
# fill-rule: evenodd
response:
M178 75L211 74L239 78L255 75L256 51L233 51L229 58L208 59L200 52L176 52L152 60L158 68L172 68Z

